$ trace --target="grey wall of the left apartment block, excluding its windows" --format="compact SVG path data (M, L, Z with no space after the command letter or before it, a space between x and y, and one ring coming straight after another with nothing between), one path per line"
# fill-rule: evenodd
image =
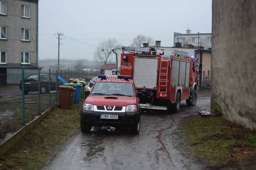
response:
M0 51L7 51L6 65L21 65L21 52L29 52L30 63L26 66L38 66L38 1L5 0L5 2L7 2L7 14L0 15L0 25L7 27L7 40L0 40ZM30 18L23 17L23 5L30 7ZM22 28L30 30L29 41L21 40Z

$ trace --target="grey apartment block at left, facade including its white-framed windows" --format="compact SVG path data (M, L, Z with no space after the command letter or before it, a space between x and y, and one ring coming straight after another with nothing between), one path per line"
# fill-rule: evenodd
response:
M0 31L0 74L38 72L38 0L0 0Z

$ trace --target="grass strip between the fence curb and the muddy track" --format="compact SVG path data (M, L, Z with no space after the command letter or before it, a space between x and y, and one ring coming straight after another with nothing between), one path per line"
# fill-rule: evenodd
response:
M83 100L62 110L53 110L8 153L0 157L0 169L41 169L42 163L80 128Z

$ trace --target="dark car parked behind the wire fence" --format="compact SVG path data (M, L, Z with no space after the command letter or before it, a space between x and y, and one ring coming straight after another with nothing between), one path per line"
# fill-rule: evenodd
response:
M56 77L54 75L50 75L50 84L51 91L56 90ZM58 80L58 86L62 84L61 81ZM25 95L29 94L29 92L37 92L38 91L38 75L31 75L24 79L24 93ZM22 81L20 81L20 90L22 90ZM40 93L46 94L49 93L49 75L41 74L40 75Z

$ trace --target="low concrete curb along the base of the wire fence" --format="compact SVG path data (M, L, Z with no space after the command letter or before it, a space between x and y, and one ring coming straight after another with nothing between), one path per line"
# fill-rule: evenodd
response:
M23 128L15 132L12 136L5 139L3 142L0 143L0 156L5 155L11 148L13 148L20 139L22 139L31 129L38 125L45 116L50 113L53 107L46 110L44 113L41 113L40 116L36 116L31 122L26 123Z

